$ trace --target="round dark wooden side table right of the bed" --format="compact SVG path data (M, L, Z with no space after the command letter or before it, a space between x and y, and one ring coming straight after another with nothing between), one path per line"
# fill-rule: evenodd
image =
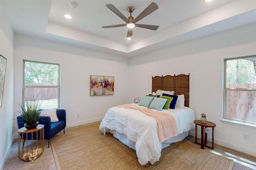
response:
M194 124L195 124L195 143L198 145L201 145L201 149L204 149L205 147L214 149L214 127L216 127L216 124L209 121L202 123L201 120L194 120ZM201 126L201 143L197 142L197 125ZM207 132L205 132L205 128L213 128L212 147L207 146Z

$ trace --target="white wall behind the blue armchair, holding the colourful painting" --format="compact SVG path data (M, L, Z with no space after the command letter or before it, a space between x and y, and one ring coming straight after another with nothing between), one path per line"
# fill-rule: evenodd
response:
M128 58L14 34L14 111L22 101L23 59L60 63L60 108L68 127L102 120L107 109L127 103ZM114 76L114 95L90 96L90 75Z

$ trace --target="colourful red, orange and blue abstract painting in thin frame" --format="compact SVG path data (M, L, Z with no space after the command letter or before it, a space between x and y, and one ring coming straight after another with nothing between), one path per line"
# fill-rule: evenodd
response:
M114 77L91 76L90 95L113 95Z

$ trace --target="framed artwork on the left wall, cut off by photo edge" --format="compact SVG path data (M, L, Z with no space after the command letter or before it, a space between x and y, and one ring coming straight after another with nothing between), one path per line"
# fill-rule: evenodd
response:
M0 107L2 106L3 101L6 62L7 59L0 55Z

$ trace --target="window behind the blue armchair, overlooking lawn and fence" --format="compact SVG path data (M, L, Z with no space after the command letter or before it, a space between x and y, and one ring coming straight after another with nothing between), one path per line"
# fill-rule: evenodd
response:
M38 102L41 109L59 108L60 65L23 61L23 102Z

